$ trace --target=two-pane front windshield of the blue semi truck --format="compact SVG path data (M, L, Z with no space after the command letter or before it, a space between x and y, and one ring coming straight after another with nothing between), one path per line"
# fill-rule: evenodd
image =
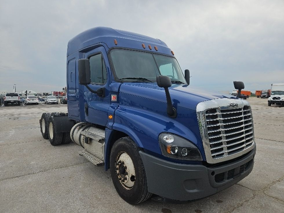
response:
M116 77L123 81L156 82L157 75L170 77L172 83L185 79L175 58L134 50L114 49L110 52Z

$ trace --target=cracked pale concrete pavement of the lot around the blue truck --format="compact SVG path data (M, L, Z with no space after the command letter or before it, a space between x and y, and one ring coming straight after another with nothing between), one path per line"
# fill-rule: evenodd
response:
M217 194L182 204L158 198L130 205L110 172L79 156L74 143L52 146L41 136L43 112L67 105L0 107L0 212L283 212L284 107L249 98L257 151L252 173ZM162 180L161 180L162 181Z

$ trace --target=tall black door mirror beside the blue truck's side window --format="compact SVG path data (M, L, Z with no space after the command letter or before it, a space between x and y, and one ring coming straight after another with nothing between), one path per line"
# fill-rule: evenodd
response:
M79 73L79 84L88 85L91 83L91 71L89 59L78 60L78 73Z

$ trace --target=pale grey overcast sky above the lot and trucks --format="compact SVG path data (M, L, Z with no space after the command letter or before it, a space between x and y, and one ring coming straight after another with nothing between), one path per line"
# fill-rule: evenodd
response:
M68 41L96 26L161 39L205 90L284 83L283 0L0 0L0 90L62 90Z

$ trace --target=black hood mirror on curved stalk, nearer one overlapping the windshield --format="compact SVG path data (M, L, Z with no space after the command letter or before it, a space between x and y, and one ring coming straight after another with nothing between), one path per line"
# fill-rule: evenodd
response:
M156 81L159 87L165 89L166 99L167 99L167 114L171 118L176 118L176 108L172 105L172 99L169 92L169 87L172 85L171 79L165 75L157 75Z

